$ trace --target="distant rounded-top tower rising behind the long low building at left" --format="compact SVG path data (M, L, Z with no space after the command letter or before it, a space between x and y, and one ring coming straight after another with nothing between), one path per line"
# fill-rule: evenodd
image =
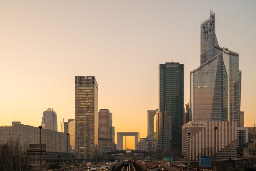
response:
M58 131L57 114L52 108L48 108L43 112L41 126L44 129Z

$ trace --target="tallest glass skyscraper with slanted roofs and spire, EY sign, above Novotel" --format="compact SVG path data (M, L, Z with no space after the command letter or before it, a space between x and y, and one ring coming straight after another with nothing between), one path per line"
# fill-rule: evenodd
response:
M239 54L219 47L213 11L200 24L200 40L200 66L190 73L191 120L237 121L239 126Z

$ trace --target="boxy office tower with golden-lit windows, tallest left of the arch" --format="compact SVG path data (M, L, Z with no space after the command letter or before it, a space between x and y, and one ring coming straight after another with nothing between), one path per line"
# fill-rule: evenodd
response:
M75 125L76 158L94 157L98 145L98 83L94 76L75 77Z

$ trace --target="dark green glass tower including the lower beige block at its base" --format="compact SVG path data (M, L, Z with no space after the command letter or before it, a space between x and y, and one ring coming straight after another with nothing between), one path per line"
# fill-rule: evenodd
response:
M160 64L157 148L163 152L182 148L183 108L184 65L173 62Z

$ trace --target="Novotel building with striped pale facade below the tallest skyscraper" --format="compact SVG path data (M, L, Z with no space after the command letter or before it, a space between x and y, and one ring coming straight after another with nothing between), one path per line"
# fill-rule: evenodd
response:
M236 130L236 121L189 121L182 126L182 156L214 156L216 138L216 158L236 158Z

